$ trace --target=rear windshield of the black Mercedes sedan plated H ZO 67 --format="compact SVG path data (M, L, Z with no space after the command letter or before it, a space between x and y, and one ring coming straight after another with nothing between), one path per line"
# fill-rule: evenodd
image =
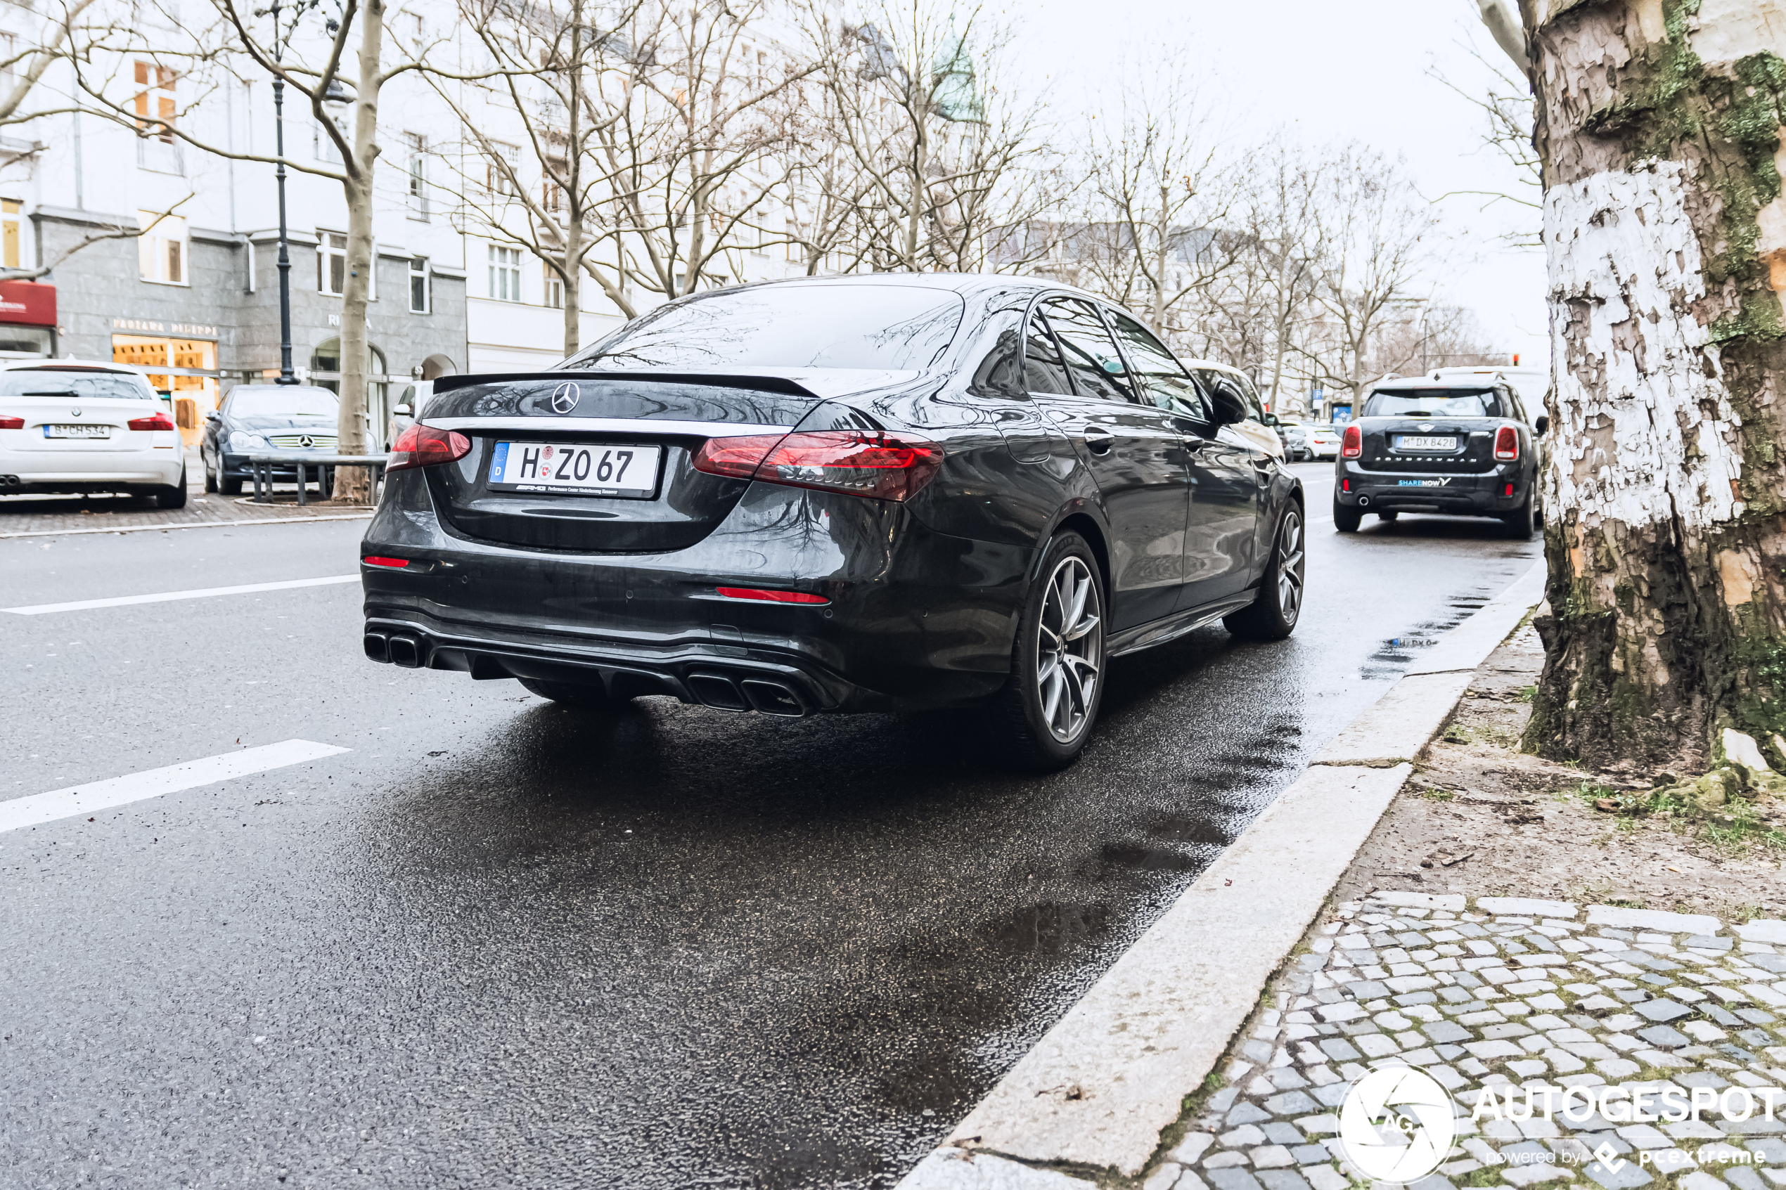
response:
M964 309L954 293L916 285L761 285L647 314L561 368L923 369Z

